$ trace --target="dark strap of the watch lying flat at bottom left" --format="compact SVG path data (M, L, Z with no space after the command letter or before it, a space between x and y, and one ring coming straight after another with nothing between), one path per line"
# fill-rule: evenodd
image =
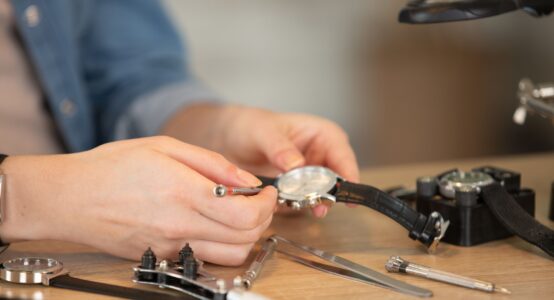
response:
M71 277L68 274L55 277L50 280L50 286L70 289L80 292L101 294L112 297L137 300L161 300L161 299L194 299L191 296L183 294L182 296L173 296L161 292L152 292L130 287L123 287L100 282L94 282L84 279Z

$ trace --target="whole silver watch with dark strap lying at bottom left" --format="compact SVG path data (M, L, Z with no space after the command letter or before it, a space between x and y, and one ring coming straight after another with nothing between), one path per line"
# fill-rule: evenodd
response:
M58 288L126 299L175 299L170 294L104 284L69 276L63 264L52 258L22 257L0 264L0 279L19 284L42 284ZM181 298L181 297L179 297Z

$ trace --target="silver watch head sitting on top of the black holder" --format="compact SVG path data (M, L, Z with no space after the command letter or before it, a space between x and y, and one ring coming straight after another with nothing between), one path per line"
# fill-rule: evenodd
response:
M443 196L454 198L456 190L475 189L480 192L480 188L494 183L494 179L483 172L462 172L455 171L444 175L439 180L440 192Z

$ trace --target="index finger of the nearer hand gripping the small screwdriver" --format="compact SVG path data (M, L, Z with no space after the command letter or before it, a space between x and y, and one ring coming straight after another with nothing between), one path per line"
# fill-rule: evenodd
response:
M221 154L169 137L151 139L162 152L213 182L230 186L258 186L261 184L258 178L236 167Z

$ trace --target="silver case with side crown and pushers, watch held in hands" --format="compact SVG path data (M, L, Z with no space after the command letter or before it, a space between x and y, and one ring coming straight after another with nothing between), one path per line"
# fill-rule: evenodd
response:
M331 194L339 175L321 166L305 166L277 176L275 186L279 191L278 203L294 210L314 207L318 204L332 206L336 198Z

